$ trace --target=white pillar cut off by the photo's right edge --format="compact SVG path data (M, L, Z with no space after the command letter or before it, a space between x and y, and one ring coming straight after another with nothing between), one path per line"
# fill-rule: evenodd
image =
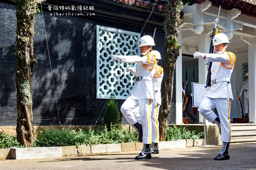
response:
M256 122L256 37L252 37L252 45L248 45L249 72L249 122Z

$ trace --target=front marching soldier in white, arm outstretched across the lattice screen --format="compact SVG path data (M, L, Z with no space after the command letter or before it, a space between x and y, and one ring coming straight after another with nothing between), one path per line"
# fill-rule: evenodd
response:
M152 46L155 45L154 39L145 35L141 37L139 42L140 53L143 57L138 55L112 55L112 60L120 60L124 63L137 63L136 65L136 82L133 86L131 95L124 101L121 107L121 112L126 118L127 122L134 127L134 129L142 137L143 149L135 159L150 159L149 144L151 144L151 101L154 98L152 78L155 75L156 55L150 54ZM140 124L132 110L139 106L140 116L142 122L142 131Z

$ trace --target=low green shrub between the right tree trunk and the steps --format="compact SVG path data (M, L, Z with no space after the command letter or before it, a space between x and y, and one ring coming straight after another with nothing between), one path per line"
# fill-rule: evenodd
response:
M190 131L186 127L167 127L165 141L171 141L173 139L199 139L204 136L204 132L199 132L196 135L196 131Z

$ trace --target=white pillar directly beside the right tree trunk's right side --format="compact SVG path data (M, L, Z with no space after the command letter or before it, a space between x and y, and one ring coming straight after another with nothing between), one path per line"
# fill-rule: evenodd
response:
M178 29L178 45L182 44L181 29ZM180 48L180 55L176 61L176 123L182 122L182 51ZM173 122L174 123L174 122Z

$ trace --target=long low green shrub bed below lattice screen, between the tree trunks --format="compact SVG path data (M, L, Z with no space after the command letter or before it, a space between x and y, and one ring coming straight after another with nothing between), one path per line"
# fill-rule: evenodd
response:
M39 129L38 136L34 140L34 147L44 146L70 146L70 145L92 145L92 144L116 144L126 142L138 142L138 136L135 131L127 129L121 130L118 126L110 124L110 130L107 125L102 129L79 131L70 129Z

